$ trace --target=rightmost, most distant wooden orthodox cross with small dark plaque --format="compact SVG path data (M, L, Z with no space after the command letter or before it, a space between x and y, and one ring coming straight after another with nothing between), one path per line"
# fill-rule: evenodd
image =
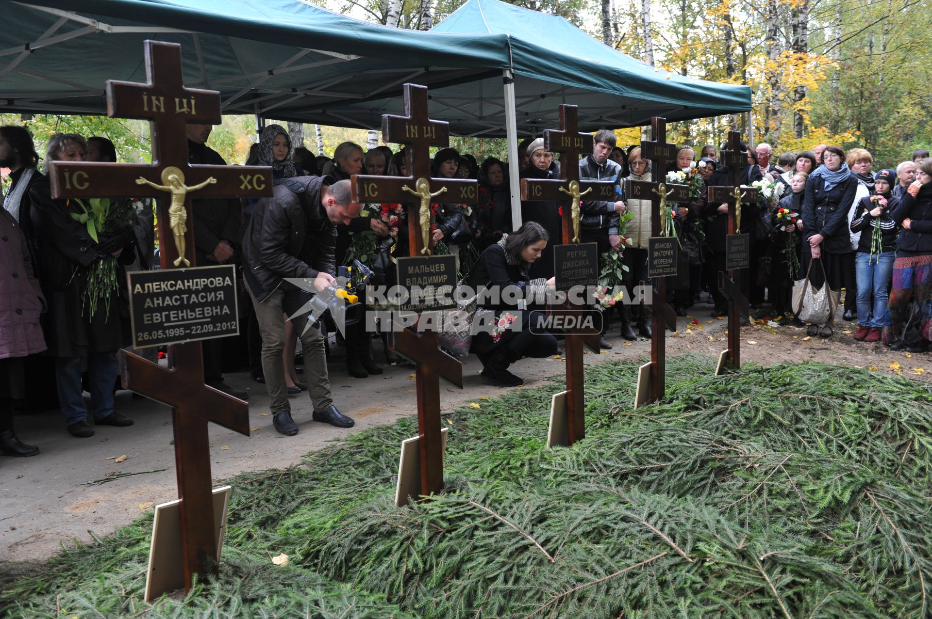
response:
M747 298L735 282L735 271L747 269L750 262L750 235L741 234L741 205L758 201L758 190L739 187L741 168L747 162L747 153L741 150L741 133L728 132L728 148L721 151L720 163L728 167L730 187L710 186L709 204L728 204L728 236L725 241L725 271L719 273L719 289L728 299L728 349L722 351L716 373L726 363L733 368L741 365L741 316L748 316Z

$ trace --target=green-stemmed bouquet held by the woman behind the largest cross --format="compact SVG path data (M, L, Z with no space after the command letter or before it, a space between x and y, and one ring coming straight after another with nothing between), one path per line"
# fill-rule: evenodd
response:
M132 216L136 214L133 200L92 197L88 200L90 207L82 200L72 198L75 204L83 211L71 213L72 219L84 223L88 227L88 235L99 243L100 234L119 232L132 223ZM71 204L69 199L66 205ZM117 259L107 254L97 262L90 265L88 283L84 289L84 301L88 303L90 316L97 311L98 303L103 300L106 315L110 316L110 300L113 293L119 288L117 282ZM83 315L83 312L82 312Z

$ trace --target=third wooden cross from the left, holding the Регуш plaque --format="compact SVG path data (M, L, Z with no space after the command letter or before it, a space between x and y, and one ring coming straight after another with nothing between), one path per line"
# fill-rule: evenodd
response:
M562 153L559 179L522 179L521 199L528 201L555 201L563 203L563 243L580 242L580 199L588 195L594 200L615 201L615 182L580 181L579 160L592 155L591 133L579 130L578 108L575 105L560 105L560 128L545 129L543 147L551 153ZM595 284L595 282L593 282ZM567 290L563 290L567 292ZM564 307L569 313L579 315L582 304L574 304L569 298ZM553 308L552 308L553 309ZM557 312L567 311L557 308ZM599 333L596 330L568 333L567 351L567 437L569 444L585 437L585 387L583 372L583 345L599 352Z

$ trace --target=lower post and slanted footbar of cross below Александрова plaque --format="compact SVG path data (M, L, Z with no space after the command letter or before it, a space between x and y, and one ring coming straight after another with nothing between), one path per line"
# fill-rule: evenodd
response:
M169 368L125 350L120 351L119 363L125 388L171 407L186 588L194 574L217 573L207 424L220 424L248 437L249 405L203 384L202 378L179 380L203 376L199 342L171 344Z

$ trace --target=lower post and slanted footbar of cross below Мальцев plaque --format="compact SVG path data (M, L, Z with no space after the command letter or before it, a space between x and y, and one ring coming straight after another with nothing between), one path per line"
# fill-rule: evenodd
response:
M463 367L437 347L437 332L391 331L389 347L415 364L418 389L420 491L430 496L444 488L444 444L440 424L440 379L463 388Z

